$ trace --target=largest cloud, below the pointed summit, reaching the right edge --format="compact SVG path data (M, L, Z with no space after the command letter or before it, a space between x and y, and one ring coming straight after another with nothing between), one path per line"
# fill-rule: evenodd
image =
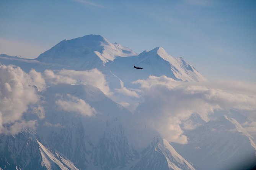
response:
M137 80L142 92L142 102L137 107L139 120L158 130L168 141L187 143L181 123L187 129L195 128L186 122L193 113L198 113L205 121L215 110L256 111L254 88L251 94L243 88L222 87L212 82L178 82L166 76L150 76L147 80Z

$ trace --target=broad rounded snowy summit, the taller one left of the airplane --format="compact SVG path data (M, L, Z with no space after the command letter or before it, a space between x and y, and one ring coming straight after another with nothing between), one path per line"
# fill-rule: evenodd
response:
M117 56L134 56L137 53L118 43L111 43L101 35L85 35L72 40L61 41L50 50L39 55L37 60L42 61L46 58L86 58L95 55L105 64L108 61L113 61Z

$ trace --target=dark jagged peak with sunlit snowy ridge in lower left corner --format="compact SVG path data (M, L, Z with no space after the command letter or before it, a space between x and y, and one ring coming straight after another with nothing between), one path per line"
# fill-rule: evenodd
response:
M43 146L31 130L0 137L2 169L78 170L70 160Z

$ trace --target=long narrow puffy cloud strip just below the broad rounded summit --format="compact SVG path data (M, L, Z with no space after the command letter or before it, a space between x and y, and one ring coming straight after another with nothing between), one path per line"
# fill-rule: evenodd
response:
M68 84L83 84L98 87L105 95L112 95L108 84L98 69L90 71L75 71L75 70L61 70L55 73L51 70L45 70L43 77L46 82L50 84L68 83Z

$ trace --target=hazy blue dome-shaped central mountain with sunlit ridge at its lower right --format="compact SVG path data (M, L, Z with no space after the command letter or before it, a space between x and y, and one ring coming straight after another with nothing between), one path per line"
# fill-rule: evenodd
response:
M67 99L66 94L84 100L95 108L96 114L89 117L56 107L55 101ZM141 131L145 136L148 132L140 129L128 110L98 88L60 84L47 88L41 95L47 101L43 105L46 114L39 122L37 134L47 141L47 146L65 155L79 169L134 169L134 162L142 166L140 163L145 157L153 158L155 148L167 167L193 169L165 140L153 142L155 145L148 147L153 138L147 137L148 141L139 146L137 141L142 140L142 134L137 136L136 133ZM155 169L161 166L157 164Z

